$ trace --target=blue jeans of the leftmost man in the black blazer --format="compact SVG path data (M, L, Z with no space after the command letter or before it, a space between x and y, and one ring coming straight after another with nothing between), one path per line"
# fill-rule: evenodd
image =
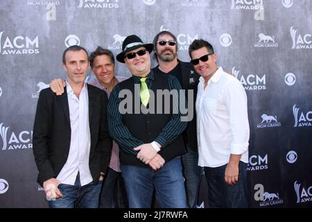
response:
M51 208L97 208L98 198L102 182L96 185L94 182L81 187L79 173L77 175L74 185L58 185L58 189L63 194L61 198L56 200L49 200L49 207Z

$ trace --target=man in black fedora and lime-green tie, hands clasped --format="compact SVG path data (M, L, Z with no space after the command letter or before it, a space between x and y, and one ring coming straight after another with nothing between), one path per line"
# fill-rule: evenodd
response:
M187 207L180 159L186 152L182 132L187 122L180 121L180 111L173 112L185 96L177 94L167 101L153 96L159 91L180 92L181 85L174 76L155 75L150 69L153 44L130 35L122 49L116 59L125 63L132 77L112 90L107 118L120 148L129 207L151 207L154 189L162 207Z

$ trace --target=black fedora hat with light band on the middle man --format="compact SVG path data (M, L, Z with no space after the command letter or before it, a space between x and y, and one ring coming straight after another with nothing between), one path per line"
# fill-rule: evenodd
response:
M153 44L144 44L142 40L137 37L137 35L127 36L123 41L123 51L116 56L117 61L125 63L125 53L140 47L146 48L149 53L151 53L154 49Z

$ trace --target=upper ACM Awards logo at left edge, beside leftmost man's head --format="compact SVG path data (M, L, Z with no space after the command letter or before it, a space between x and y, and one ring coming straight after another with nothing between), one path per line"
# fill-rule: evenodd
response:
M1 55L18 55L18 54L38 54L39 39L36 37L28 37L17 35L9 37L0 32L0 54Z

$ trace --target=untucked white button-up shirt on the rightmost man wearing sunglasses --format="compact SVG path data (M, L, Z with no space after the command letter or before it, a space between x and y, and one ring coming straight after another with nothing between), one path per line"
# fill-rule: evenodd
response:
M243 85L219 67L209 79L200 77L196 99L198 165L220 167L231 154L248 163L249 123Z

